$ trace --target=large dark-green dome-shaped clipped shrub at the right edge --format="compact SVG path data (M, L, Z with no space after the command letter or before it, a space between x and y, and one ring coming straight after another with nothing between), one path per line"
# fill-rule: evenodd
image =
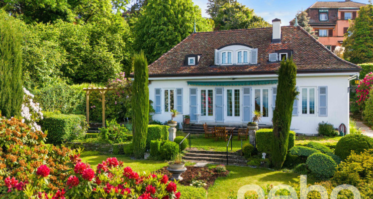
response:
M338 141L334 154L345 160L351 151L359 154L366 149L373 149L372 138L362 134L349 134Z

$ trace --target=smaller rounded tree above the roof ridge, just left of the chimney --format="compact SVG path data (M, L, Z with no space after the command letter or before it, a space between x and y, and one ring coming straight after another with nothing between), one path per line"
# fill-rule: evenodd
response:
M236 1L225 3L221 6L213 20L215 22L215 30L271 27L271 24L262 17L257 16L253 9Z

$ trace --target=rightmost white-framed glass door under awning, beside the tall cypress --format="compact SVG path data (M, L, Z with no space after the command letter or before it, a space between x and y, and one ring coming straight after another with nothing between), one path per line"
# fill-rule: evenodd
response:
M261 122L270 122L270 102L269 102L269 91L270 89L255 89L254 90L254 101L255 110L263 113Z

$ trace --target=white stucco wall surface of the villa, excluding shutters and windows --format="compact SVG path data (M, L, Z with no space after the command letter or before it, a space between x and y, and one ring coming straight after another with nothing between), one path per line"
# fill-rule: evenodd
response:
M315 101L315 115L302 115L300 114L301 110L301 99L299 99L298 108L299 114L298 116L292 117L291 122L291 129L297 133L304 133L304 134L317 134L317 126L319 122L325 121L329 122L334 125L335 128L341 123L344 123L349 129L349 94L348 94L348 87L349 87L349 80L348 78L351 74L333 74L333 75L326 75L322 74L317 76L317 74L311 74L311 76L306 76L302 74L298 74L297 76L297 87L300 91L302 87L315 87L316 88L316 101ZM158 79L158 80L157 80ZM247 77L247 78L237 78L237 81L244 81L244 80L266 80L266 79L277 79L276 76L262 76L262 77ZM196 86L188 86L187 81L233 81L232 77L221 79L218 77L205 77L203 80L198 80L196 78L168 78L167 80L161 80L161 78L150 79L151 84L149 85L149 96L150 100L155 101L155 89L176 89L176 88L183 88L183 113L180 114L175 118L176 121L182 122L183 115L189 114L189 88L198 88ZM327 116L318 116L318 91L317 87L319 86L327 86L328 93L327 93ZM251 86L253 89L267 87L272 88L276 87L276 85L255 85ZM206 88L206 87L205 87ZM215 88L215 87L211 87ZM227 88L227 87L224 87ZM163 91L163 90L162 90ZM270 106L272 105L272 92L270 95ZM154 103L153 103L154 105ZM163 104L163 95L162 95L162 113L154 114L153 118L159 121L167 121L171 119L170 112L164 112L164 104ZM270 111L270 117L272 119L272 111Z

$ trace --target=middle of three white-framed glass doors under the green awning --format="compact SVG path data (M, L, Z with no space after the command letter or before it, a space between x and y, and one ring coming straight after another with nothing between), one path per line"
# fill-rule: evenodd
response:
M226 90L226 120L241 122L241 93L240 89Z

